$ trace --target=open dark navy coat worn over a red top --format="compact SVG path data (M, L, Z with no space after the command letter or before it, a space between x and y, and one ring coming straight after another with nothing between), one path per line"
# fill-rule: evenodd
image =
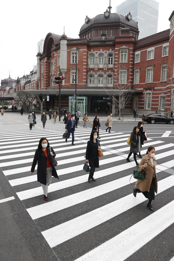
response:
M56 154L55 154L52 147L51 147L51 151L53 152L53 155L54 155L54 158L55 158ZM51 160L49 147L47 147L47 156L48 156L48 159L50 160L51 168L53 170L52 176L59 179L59 177L57 176L56 169L55 169L53 162ZM35 155L34 155L34 159L33 159L33 164L31 166L31 172L34 172L34 169L36 167L37 162L38 162L37 181L39 181L40 183L42 183L44 185L47 185L47 157L46 157L46 155L43 151L41 152L40 156L38 156L37 150L36 150Z

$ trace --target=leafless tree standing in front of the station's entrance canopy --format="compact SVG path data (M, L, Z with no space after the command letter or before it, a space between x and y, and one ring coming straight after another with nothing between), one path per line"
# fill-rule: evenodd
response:
M132 84L133 76L130 77L128 81L126 81L126 75L122 73L122 70L127 70L128 72L128 69L125 66L118 65L118 69L115 70L112 88L108 89L108 87L103 87L110 97L111 104L114 106L114 111L115 108L118 108L119 110L119 120L121 116L121 109L130 102L135 93Z

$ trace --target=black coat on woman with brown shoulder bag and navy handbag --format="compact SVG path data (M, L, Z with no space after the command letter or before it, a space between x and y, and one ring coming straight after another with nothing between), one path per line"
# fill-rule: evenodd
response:
M98 158L98 140L96 143L93 140L88 140L86 147L86 159L89 160L89 166L91 168L99 168L99 158Z

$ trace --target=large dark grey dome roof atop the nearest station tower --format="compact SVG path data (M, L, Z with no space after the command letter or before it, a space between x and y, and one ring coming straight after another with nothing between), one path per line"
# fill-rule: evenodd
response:
M80 28L80 32L87 29L91 25L98 25L101 23L104 23L105 25L107 23L123 23L125 25L125 16L118 13L110 13L109 17L105 17L104 14L96 15L94 18L90 19L88 23L84 23L84 25L82 25L82 27ZM126 26L135 27L136 29L138 29L138 25L134 20L128 21L126 19Z

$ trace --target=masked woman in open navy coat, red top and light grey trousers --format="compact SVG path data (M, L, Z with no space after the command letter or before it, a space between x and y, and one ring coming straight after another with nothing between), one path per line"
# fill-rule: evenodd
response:
M51 152L50 152L51 148ZM44 200L48 200L47 193L48 193L48 186L51 184L51 178L54 176L55 178L59 179L57 176L56 169L53 165L51 156L55 158L56 154L52 147L50 147L49 142L46 138L41 138L39 140L38 148L35 152L33 164L31 166L32 175L34 169L36 167L36 163L38 162L37 166L37 181L39 181L42 185L42 189L44 192Z

